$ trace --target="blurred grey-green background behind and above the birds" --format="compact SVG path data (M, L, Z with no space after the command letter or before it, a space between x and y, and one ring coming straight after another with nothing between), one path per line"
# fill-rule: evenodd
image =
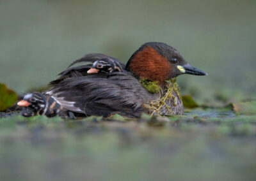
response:
M178 78L205 105L256 99L256 1L0 1L0 82L47 85L99 52L126 62L147 41L177 48L209 76Z

